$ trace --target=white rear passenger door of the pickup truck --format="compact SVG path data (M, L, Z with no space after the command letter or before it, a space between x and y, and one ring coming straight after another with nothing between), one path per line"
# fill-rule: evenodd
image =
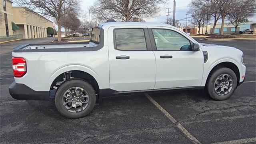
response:
M156 60L146 26L110 27L108 50L112 90L134 91L154 88Z

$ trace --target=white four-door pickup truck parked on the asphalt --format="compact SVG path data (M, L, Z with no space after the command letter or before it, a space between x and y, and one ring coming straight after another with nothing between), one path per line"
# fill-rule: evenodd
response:
M11 96L54 98L68 118L86 116L101 97L138 92L204 88L214 100L226 100L246 72L242 51L199 44L175 27L154 23L99 24L90 42L25 44L12 56Z

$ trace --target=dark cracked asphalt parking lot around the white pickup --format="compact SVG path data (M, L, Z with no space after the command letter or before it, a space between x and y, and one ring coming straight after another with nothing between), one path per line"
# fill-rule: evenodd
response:
M20 40L0 45L0 143L256 143L256 40L198 42L244 52L244 84L228 100L203 90L104 98L92 113L70 120L54 101L19 101L8 93L11 52Z

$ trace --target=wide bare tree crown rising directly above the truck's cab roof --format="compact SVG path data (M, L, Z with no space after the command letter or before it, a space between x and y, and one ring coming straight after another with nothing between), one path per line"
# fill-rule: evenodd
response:
M97 0L90 7L93 13L107 19L129 22L134 17L148 18L160 10L158 4L166 0Z

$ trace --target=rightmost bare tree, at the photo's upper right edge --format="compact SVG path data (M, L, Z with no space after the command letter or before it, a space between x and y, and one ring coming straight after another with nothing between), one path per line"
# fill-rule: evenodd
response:
M235 34L237 27L242 22L248 22L248 17L253 16L256 10L255 0L238 0L236 6L232 7L227 15L229 24L235 27Z

